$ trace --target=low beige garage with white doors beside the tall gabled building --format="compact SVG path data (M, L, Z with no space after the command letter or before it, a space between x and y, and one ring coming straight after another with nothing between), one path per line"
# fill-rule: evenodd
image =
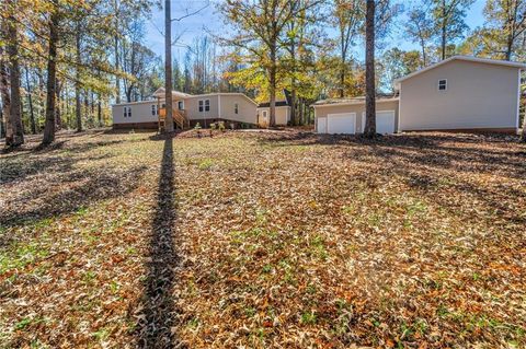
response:
M362 133L365 126L365 97L335 98L315 103L316 131L329 135ZM378 96L376 128L378 133L393 133L398 123L398 97Z

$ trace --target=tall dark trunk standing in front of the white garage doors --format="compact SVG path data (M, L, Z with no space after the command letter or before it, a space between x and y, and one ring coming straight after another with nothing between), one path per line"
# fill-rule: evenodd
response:
M375 0L367 0L365 26L365 130L364 136L376 136L376 86L375 86Z

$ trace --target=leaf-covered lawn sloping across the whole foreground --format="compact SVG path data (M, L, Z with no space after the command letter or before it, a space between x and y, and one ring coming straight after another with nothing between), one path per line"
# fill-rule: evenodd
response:
M526 348L526 148L64 133L0 155L0 347Z

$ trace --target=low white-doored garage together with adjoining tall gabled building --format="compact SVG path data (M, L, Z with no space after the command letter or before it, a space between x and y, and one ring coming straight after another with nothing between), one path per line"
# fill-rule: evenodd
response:
M402 131L517 132L521 71L526 65L454 56L395 81L376 101L379 133ZM365 97L315 103L319 133L359 133Z

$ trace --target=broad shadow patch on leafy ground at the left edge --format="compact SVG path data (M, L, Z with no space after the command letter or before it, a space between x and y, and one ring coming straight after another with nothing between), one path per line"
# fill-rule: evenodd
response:
M1 158L0 191L4 195L0 225L32 224L133 191L146 167L136 165L124 170L108 165L107 160L114 154L104 151L104 147L124 141L70 143L64 140L45 150ZM96 153L91 152L94 149ZM93 161L100 165L82 165Z

